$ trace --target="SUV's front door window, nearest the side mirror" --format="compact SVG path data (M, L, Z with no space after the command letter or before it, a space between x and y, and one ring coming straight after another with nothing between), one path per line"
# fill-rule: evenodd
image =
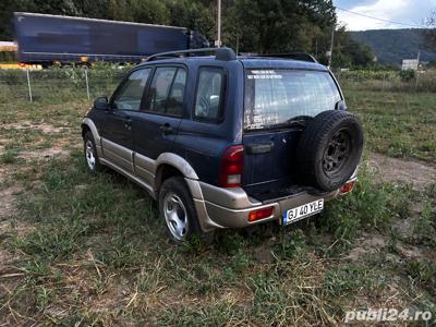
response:
M150 69L142 69L130 74L114 95L113 109L140 110L141 99L150 71Z

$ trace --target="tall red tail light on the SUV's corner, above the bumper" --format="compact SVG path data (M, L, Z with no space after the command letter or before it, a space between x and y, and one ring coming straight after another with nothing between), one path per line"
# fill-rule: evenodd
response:
M221 158L219 184L222 187L240 187L244 169L244 146L234 145L226 149Z

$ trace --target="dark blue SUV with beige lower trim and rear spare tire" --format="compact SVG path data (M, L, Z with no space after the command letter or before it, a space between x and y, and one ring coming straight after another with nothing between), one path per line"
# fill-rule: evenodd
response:
M87 167L147 190L175 241L319 213L352 190L363 132L330 71L288 57L150 57L84 118Z

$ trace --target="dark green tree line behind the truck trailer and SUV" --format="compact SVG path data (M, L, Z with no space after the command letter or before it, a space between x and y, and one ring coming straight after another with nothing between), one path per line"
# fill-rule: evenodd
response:
M184 26L214 44L216 0L2 0L0 39L13 37L14 11ZM222 0L222 44L241 52L310 52L326 62L337 24L331 0ZM367 65L374 55L336 31L334 65Z

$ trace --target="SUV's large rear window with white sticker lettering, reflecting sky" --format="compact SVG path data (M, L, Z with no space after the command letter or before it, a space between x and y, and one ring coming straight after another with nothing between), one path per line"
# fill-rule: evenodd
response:
M286 125L296 117L315 117L341 100L328 72L247 70L245 73L245 130Z

